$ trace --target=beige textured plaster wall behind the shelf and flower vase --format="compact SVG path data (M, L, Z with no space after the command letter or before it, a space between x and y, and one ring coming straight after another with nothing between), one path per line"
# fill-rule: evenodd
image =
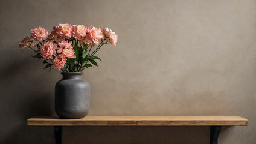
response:
M109 26L117 47L85 70L89 115L240 115L220 143L256 142L256 1L1 1L0 143L54 143L56 70L19 51L30 30L59 23ZM63 143L208 143L208 127L65 127Z

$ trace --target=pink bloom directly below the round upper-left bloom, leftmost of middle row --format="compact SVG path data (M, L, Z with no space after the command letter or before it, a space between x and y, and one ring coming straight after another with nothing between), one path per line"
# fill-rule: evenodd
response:
M43 46L40 47L40 54L43 59L53 59L53 55L56 54L57 44L53 44L50 41L44 43Z

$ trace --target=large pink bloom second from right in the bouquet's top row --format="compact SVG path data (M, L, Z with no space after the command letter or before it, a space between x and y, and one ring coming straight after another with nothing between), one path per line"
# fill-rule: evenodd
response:
M86 35L85 40L92 44L92 46L98 45L102 38L103 34L100 29L97 29L94 26L88 28L88 34Z

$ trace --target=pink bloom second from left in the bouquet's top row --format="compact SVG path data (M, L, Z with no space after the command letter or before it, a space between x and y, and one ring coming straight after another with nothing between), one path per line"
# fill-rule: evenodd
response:
M59 24L59 26L54 26L53 30L56 34L65 35L65 38L72 37L72 26L69 24Z

